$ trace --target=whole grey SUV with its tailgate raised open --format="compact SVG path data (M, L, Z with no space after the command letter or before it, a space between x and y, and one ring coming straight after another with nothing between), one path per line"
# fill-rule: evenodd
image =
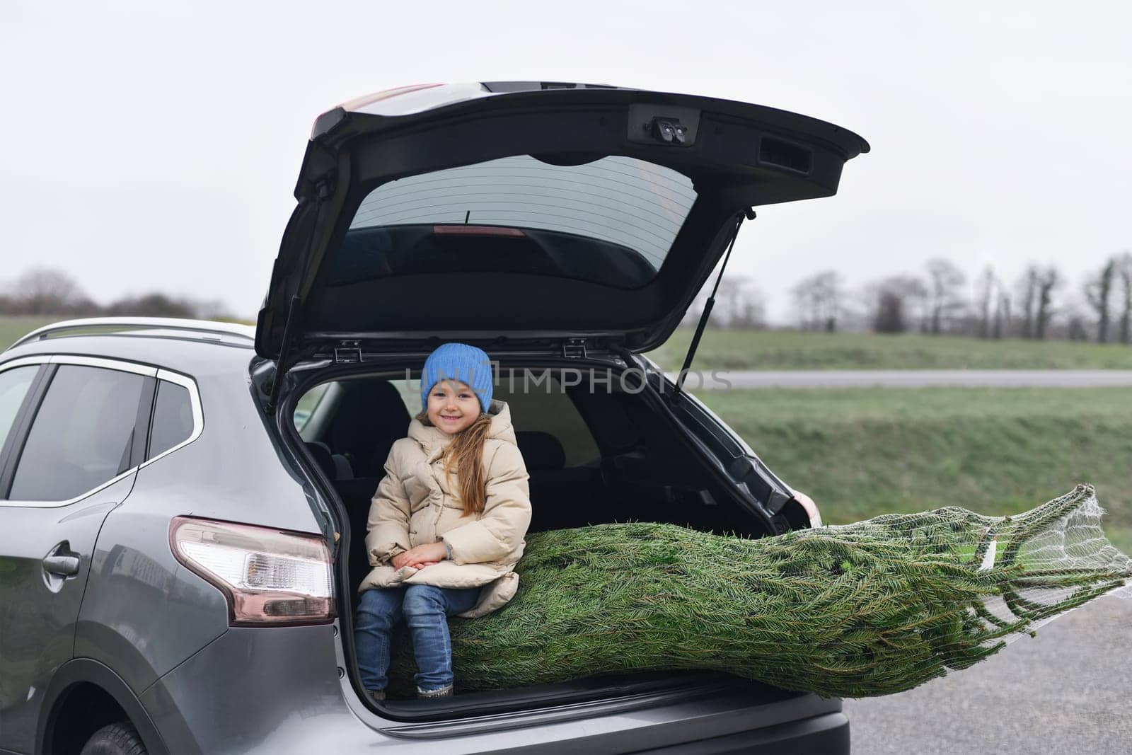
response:
M532 531L817 522L641 352L753 207L834 194L867 149L592 85L319 117L255 328L74 320L0 354L0 752L847 753L840 701L721 674L374 703L352 615L370 496L448 340L497 362Z

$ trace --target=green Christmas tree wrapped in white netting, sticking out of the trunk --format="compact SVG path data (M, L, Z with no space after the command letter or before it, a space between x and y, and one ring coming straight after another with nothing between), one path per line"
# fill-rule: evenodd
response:
M456 689L706 669L863 697L964 669L1105 593L1132 560L1091 486L1017 516L947 507L757 540L671 524L532 533L503 609L449 619ZM391 693L412 690L409 637Z

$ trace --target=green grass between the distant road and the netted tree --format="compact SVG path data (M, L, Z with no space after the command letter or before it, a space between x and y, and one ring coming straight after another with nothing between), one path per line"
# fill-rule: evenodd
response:
M827 523L1014 514L1091 482L1132 552L1132 388L701 392Z

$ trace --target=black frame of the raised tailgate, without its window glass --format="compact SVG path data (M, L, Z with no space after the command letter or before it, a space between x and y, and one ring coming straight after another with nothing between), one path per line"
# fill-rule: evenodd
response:
M454 328L461 340L477 333L497 340L588 334L646 350L676 327L740 214L756 205L835 194L844 162L868 149L864 139L840 127L748 103L616 87L495 86L506 91L429 87L320 117L295 189L299 204L259 314L256 349L261 357L277 359L284 349L302 351L350 337L391 344ZM428 101L397 109L420 98ZM685 144L649 137L650 123L664 119L683 119ZM525 271L521 264L497 269L494 258L468 271L387 274L361 268L353 277L335 277L341 272L336 254L355 209L374 188L523 155L554 165L617 156L691 179L695 203L679 232L664 242L671 246L654 277L626 289ZM538 249L518 259L563 256ZM445 295L431 297L429 308L419 307L441 282ZM414 316L406 318L406 312Z

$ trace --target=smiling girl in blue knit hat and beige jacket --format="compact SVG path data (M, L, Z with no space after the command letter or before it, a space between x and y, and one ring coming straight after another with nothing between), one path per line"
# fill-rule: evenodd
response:
M393 444L369 509L374 569L355 640L367 694L385 700L389 641L404 617L419 697L452 695L447 617L494 611L515 594L531 523L526 466L507 404L491 400L483 351L446 343L421 371L422 411Z

